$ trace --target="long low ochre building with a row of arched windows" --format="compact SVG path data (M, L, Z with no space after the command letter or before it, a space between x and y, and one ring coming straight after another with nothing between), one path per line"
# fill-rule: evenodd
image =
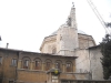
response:
M0 83L59 83L61 80L88 80L88 73L75 72L75 59L77 56L0 48ZM53 74L56 71L57 75Z

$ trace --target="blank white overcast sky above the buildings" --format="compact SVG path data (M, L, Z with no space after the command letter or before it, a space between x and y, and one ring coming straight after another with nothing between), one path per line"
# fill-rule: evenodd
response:
M78 29L90 34L97 44L104 29L87 0L0 0L1 46L39 52L44 37L65 23L72 2L75 6ZM92 0L104 21L110 21L111 0Z

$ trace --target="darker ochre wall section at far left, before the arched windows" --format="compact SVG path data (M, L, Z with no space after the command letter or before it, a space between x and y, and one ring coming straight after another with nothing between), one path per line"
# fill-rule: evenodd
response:
M3 83L9 83L9 81L16 80L16 66L11 65L12 59L18 59L16 52L0 51L0 56L2 56L2 64L0 65L0 75Z

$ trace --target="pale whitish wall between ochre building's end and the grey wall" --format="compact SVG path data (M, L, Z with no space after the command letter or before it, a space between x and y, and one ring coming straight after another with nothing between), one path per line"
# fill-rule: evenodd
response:
M89 60L89 50L79 49L75 51L75 66L77 73L87 73L90 72L90 60Z

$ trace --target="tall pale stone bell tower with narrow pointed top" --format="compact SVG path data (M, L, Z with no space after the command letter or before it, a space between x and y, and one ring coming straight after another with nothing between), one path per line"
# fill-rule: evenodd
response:
M58 54L62 55L74 55L74 50L79 48L74 6L71 8L67 23L58 30L57 48Z

